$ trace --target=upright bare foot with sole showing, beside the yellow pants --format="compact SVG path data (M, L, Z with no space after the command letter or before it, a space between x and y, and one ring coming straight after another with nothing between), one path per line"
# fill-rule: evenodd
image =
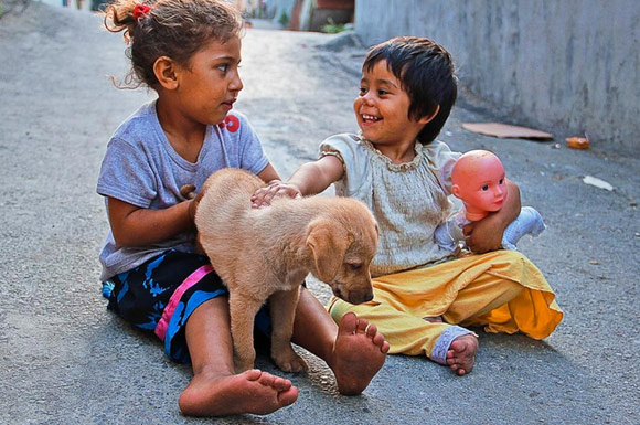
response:
M366 389L386 359L390 344L377 328L348 312L338 325L338 338L329 365L335 375L338 390L356 395Z

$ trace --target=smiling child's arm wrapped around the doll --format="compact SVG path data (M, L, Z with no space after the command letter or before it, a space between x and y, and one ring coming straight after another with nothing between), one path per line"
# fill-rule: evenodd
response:
M500 249L502 234L509 224L520 214L520 189L513 181L506 179L508 195L504 204L484 219L465 226L467 246L476 254Z

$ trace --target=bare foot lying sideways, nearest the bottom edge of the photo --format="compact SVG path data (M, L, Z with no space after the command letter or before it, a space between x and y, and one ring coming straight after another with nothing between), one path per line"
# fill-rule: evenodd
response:
M193 376L178 405L188 416L266 415L297 399L291 381L252 369L237 375L202 372Z

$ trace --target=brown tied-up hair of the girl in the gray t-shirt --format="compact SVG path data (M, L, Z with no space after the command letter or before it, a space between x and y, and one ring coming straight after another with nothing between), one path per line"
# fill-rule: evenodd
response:
M243 29L241 13L225 0L114 0L105 9L105 26L124 31L131 71L128 86L156 87L153 64L161 56L189 65L212 40L225 43Z

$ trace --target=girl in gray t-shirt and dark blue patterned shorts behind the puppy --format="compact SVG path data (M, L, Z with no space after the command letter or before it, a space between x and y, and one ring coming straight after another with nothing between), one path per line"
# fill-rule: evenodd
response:
M193 379L178 402L183 414L287 406L298 397L289 380L259 370L235 374L227 291L194 253L196 201L180 194L225 167L265 182L278 178L247 119L232 111L243 88L242 19L223 0L116 0L105 25L130 43L131 81L158 94L116 130L98 178L110 223L100 253L108 308L153 331L172 360L191 362ZM257 322L268 327L268 315ZM343 394L362 392L388 351L374 326L355 315L337 326L308 290L294 332L294 342L327 361Z

